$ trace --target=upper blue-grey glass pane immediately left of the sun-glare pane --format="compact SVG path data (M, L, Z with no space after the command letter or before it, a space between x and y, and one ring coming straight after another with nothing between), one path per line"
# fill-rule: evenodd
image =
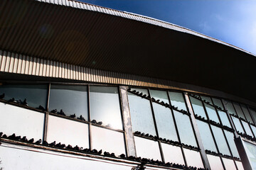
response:
M54 109L87 120L87 86L51 85L49 111Z

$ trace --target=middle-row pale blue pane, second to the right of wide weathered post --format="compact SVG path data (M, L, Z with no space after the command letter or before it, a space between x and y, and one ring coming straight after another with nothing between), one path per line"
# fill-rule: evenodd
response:
M157 103L153 103L153 108L159 137L166 138L167 140L178 141L171 109Z

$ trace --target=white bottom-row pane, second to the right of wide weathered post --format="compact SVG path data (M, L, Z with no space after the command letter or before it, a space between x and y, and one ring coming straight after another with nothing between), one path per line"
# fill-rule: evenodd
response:
M173 145L168 145L161 143L161 147L164 153L165 162L172 162L175 164L185 164L183 155L181 152L181 147L176 147Z

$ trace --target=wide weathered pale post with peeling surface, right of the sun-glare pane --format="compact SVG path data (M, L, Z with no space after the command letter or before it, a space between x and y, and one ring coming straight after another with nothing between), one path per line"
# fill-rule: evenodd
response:
M127 157L134 156L137 157L134 134L132 130L132 120L131 114L129 111L129 100L128 100L128 87L119 86L120 98L122 104L122 116L123 116L123 125L124 125L124 136L126 141Z

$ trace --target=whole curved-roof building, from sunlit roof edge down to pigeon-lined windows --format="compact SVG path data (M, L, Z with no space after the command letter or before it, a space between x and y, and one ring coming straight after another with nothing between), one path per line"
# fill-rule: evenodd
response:
M78 1L0 8L0 168L256 168L255 55Z

